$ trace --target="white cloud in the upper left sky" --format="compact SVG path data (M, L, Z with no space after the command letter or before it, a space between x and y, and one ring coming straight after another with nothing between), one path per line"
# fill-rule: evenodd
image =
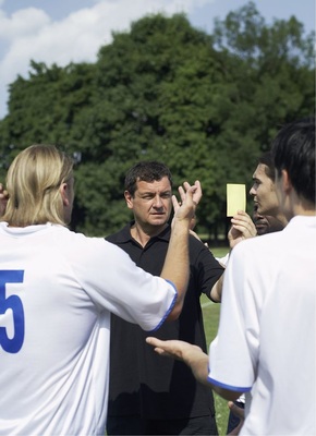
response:
M212 0L133 0L132 4L131 0L100 0L58 22L36 8L21 9L11 16L0 9L0 119L7 111L8 84L17 74L27 76L31 59L60 66L94 62L98 49L111 41L112 31L127 31L132 21L148 13L190 13L209 2Z

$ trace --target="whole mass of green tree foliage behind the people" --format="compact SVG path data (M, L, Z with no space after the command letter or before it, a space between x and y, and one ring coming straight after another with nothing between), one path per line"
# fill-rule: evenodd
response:
M226 183L248 182L279 126L314 112L313 41L295 17L268 26L250 2L212 35L183 14L148 15L113 34L94 64L32 61L0 121L0 177L32 143L75 153L73 227L105 235L130 219L127 168L162 160L175 185L202 181L198 231L214 233Z

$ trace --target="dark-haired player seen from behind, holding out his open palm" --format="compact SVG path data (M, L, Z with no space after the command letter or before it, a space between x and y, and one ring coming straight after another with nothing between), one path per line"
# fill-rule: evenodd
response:
M232 251L209 355L187 342L147 342L183 360L227 400L246 392L241 435L309 436L316 433L315 118L283 126L272 155L289 223Z

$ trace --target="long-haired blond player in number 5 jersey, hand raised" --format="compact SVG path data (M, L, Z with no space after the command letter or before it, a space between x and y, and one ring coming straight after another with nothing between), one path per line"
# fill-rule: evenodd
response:
M136 267L102 238L66 228L73 162L54 146L21 152L7 189L0 222L0 434L104 435L110 313L145 330L179 316L198 185L180 189L182 206L161 277Z

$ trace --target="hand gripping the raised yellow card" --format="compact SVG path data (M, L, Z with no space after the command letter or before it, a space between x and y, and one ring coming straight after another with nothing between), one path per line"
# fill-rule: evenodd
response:
M252 218L243 210L239 210L231 219L232 227L228 232L230 249L232 250L244 239L254 238L257 234Z

